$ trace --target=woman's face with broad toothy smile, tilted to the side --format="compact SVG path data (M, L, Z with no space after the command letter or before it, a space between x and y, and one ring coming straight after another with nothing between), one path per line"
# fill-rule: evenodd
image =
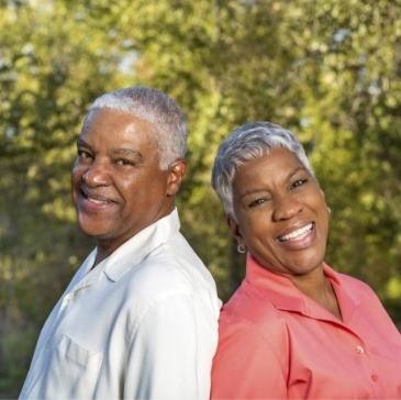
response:
M328 229L324 193L294 154L275 148L243 165L233 198L232 232L261 265L287 276L322 266Z

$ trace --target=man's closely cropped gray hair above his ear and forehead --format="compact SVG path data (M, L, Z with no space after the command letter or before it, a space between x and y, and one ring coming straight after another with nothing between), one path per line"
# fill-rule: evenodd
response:
M187 153L188 129L180 107L166 93L154 88L133 86L105 93L89 109L110 109L126 112L149 122L160 154L160 167L167 169Z

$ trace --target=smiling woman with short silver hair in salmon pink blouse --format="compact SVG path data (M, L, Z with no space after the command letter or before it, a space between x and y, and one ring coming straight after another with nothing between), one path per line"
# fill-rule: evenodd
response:
M212 398L401 398L401 335L374 291L324 263L330 210L288 130L245 124L212 186L247 252L220 318Z

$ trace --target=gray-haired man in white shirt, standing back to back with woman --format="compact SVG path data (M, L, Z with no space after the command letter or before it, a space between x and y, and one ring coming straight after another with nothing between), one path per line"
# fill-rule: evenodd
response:
M155 89L90 108L71 192L97 247L46 321L21 398L209 398L221 303L179 233L187 135L180 108Z

